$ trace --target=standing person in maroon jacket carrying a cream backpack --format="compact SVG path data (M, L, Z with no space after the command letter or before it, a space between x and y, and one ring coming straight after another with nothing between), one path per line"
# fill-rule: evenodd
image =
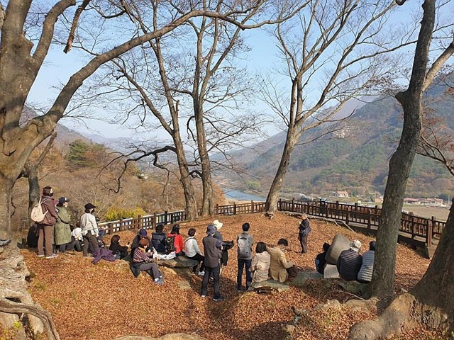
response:
M55 210L54 191L52 187L45 186L43 188L43 196L41 197L41 209L45 213L44 220L38 223L38 257L54 259L57 254L53 252L52 244L54 240L54 225L57 222L57 210ZM45 242L45 245L44 245Z

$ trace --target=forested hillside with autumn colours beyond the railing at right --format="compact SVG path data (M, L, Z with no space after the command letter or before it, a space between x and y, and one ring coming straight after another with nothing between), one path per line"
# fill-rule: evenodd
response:
M454 98L446 96L445 89L443 85L433 86L426 101L436 115L445 118L449 131L454 132L454 120L448 119L454 113ZM401 130L402 108L394 98L382 96L366 103L345 122L342 130L294 149L284 191L324 193L348 189L350 193L383 193L389 157L397 147ZM316 129L309 131L301 137L301 142L312 140L320 133ZM240 179L223 173L221 177L236 188L244 189L251 182L258 182L260 189L267 191L284 141L285 133L281 132L255 145L253 151L240 150L233 156L250 176ZM453 189L452 176L443 166L416 156L407 186L409 196L447 195Z

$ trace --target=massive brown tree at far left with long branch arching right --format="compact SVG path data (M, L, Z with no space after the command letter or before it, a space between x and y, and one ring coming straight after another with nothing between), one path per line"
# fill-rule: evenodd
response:
M47 113L29 120L26 125L21 126L19 120L23 107L31 86L48 55L50 44L55 37L56 24L63 14L76 4L76 1L51 1L50 8L45 11L42 25L34 26L35 29L42 27L36 40L28 38L25 31L29 27L26 20L29 14L31 15L31 3L31 0L10 0L6 11L3 6L0 8L1 17L4 18L1 24L0 42L0 239L10 236L11 191L28 157L35 147L52 134L74 93L101 65L134 47L170 33L195 16L222 18L241 28L248 28L249 26L244 26L238 21L238 18L247 15L256 6L263 6L267 1L255 1L253 4L250 1L233 1L230 4L229 1L229 4L223 6L221 11L206 11L203 6L187 7L187 11L184 11L183 14L165 18L160 23L160 27L151 30L150 33L135 35L135 32L129 34L130 32L125 30L123 36L126 35L128 38L122 42L106 40L102 52L95 53L92 50L94 54L92 60L70 77L57 94ZM111 6L113 4L116 6ZM110 1L109 8L114 8L114 10L118 8L118 11L104 16L104 19L106 21L123 20L122 4L126 4L125 1L118 1L118 3ZM172 5L172 2L169 1L168 4ZM84 5L82 4L82 6ZM79 14L74 17L70 26L77 26L78 23ZM35 47L33 42L36 42Z

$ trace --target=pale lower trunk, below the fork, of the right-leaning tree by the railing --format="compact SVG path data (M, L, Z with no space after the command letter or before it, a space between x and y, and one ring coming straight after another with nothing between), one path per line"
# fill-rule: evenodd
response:
M279 193L282 190L284 183L285 174L289 169L290 157L292 156L293 149L297 143L297 132L293 128L287 130L287 138L285 140L284 151L282 152L281 162L279 168L273 179L270 191L268 192L267 200L265 202L265 209L267 212L273 213L277 209L277 200L279 199Z

